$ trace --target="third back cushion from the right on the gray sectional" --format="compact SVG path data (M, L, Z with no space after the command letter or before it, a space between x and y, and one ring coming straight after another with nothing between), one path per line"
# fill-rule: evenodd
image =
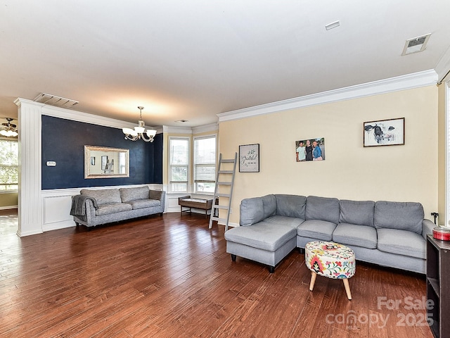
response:
M330 197L308 196L305 211L307 220L326 220L339 223L339 200ZM330 239L331 240L331 239Z

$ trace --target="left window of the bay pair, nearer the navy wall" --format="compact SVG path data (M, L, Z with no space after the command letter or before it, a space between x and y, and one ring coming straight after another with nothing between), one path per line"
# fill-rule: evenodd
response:
M188 192L189 184L189 139L169 139L169 191Z

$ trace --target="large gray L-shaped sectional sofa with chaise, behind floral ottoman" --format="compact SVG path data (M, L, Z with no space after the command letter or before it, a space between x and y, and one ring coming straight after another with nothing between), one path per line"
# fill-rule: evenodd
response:
M296 247L333 241L353 249L356 260L425 274L433 227L420 203L271 194L241 201L240 227L225 232L226 252L273 273Z

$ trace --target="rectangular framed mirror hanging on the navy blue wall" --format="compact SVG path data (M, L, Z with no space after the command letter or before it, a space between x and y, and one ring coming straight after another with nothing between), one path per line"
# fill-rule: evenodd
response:
M129 177L129 149L84 146L84 178Z

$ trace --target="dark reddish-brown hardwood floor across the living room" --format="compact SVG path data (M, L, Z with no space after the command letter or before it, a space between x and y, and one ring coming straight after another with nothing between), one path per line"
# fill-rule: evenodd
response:
M30 237L0 234L0 337L432 337L425 277L357 263L317 277L226 253L204 215L155 215ZM353 317L352 317L353 315Z

